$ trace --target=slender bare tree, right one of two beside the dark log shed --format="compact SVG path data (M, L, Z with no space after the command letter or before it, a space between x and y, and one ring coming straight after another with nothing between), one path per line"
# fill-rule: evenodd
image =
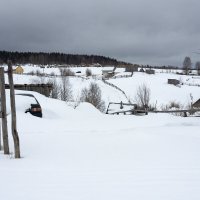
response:
M62 84L60 87L60 99L63 101L72 100L72 89L69 82L69 78L66 76L62 77Z

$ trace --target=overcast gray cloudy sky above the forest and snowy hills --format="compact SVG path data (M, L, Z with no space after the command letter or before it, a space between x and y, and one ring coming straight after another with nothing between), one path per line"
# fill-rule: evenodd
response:
M200 60L200 0L0 0L0 50Z

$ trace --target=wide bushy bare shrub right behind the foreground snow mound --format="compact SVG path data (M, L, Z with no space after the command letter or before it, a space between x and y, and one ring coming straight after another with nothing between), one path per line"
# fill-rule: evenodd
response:
M105 102L101 98L101 89L96 83L90 83L88 89L84 88L82 90L80 100L91 103L101 112L105 111Z

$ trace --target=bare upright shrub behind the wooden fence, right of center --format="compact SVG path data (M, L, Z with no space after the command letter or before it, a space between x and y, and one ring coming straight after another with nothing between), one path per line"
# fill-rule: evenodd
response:
M146 84L142 84L138 87L135 95L135 101L138 106L142 108L147 108L150 102L151 90L147 87Z

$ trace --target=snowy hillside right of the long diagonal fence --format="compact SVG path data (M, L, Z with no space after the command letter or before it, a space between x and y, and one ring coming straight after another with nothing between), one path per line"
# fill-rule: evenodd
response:
M174 86L167 83L168 79L180 80L183 85ZM156 73L149 75L135 72L130 78L110 79L110 83L125 91L128 98L133 102L139 86L145 84L151 91L150 103L160 108L162 105L175 101L186 106L200 98L199 76L184 76L171 73Z

